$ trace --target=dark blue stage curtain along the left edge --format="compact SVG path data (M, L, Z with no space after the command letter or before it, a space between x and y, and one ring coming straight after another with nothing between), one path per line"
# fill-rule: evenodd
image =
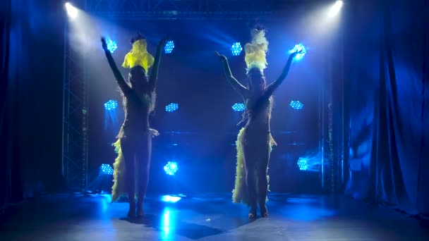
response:
M1 1L0 202L57 192L64 5Z

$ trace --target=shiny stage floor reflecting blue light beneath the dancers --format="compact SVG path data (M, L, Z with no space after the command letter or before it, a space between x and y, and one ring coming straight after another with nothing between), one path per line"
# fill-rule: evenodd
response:
M247 218L230 194L148 197L147 217L128 220L109 196L56 195L20 204L0 240L429 240L418 221L342 196L271 194L270 218Z

